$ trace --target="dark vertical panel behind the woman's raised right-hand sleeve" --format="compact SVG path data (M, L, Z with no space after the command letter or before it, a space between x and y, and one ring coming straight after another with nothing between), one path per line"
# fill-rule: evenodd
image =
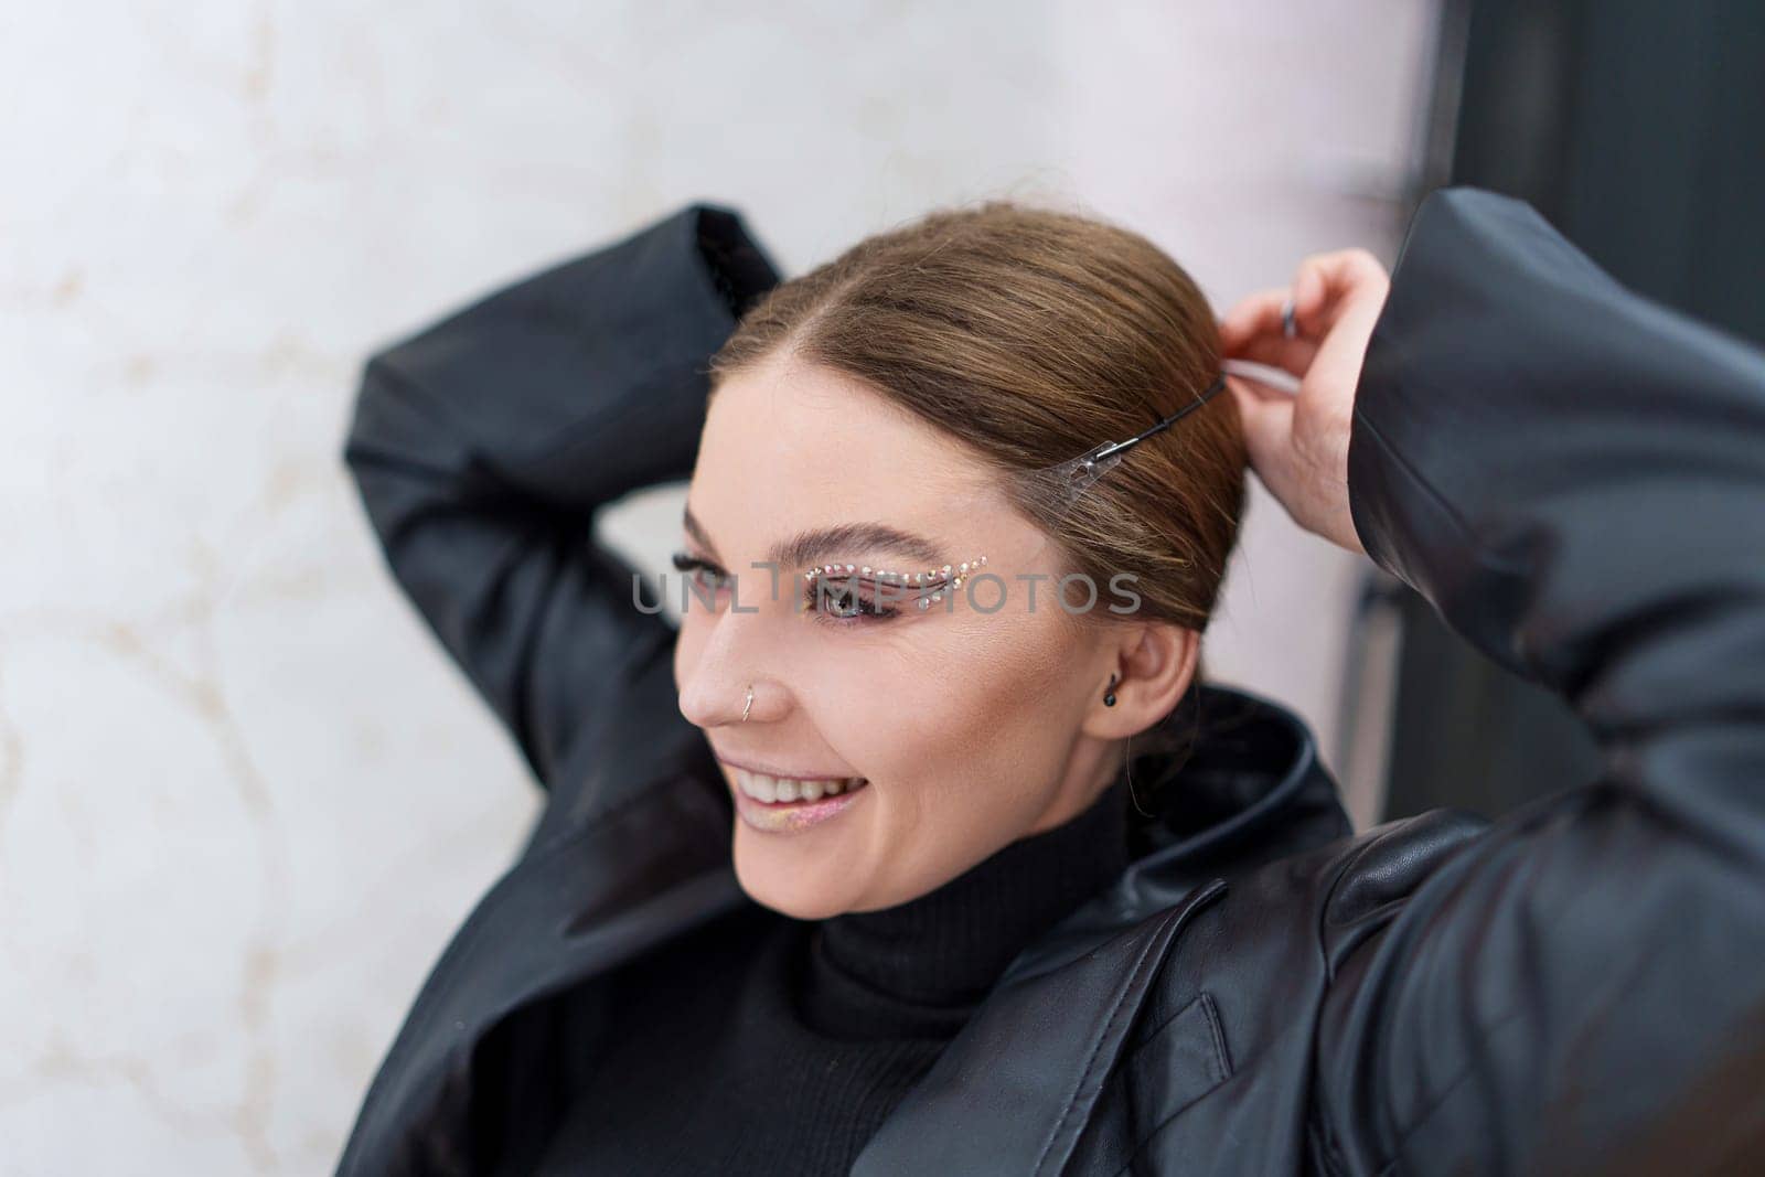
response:
M1530 201L1622 282L1765 342L1765 5L1470 4L1451 180ZM1387 817L1498 813L1597 771L1553 695L1417 596L1401 611Z

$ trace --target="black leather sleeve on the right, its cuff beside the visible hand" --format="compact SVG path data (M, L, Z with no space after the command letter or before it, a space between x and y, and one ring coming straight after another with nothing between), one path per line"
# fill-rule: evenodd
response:
M1604 768L1426 870L1396 826L1341 866L1322 1166L1730 1172L1765 1138L1765 356L1437 192L1348 489L1368 554Z

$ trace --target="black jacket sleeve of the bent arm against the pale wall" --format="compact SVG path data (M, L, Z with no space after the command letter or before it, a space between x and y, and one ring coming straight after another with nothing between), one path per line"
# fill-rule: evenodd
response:
M593 512L690 475L708 360L777 281L736 212L690 205L364 369L344 459L392 574L547 787L672 642Z

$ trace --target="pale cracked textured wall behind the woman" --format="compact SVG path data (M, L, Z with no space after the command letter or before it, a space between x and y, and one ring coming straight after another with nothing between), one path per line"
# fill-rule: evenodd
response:
M1389 249L1426 7L122 4L0 35L0 1173L312 1173L533 792L385 575L369 349L694 198L791 272L1082 199L1216 305ZM609 524L672 544L678 498ZM660 528L660 529L658 529ZM1211 658L1326 736L1354 561Z

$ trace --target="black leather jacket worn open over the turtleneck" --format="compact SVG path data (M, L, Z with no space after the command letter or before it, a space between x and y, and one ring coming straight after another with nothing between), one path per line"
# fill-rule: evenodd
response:
M556 995L752 902L672 630L590 517L687 476L704 362L775 281L694 205L367 364L346 454L392 572L549 803L342 1173L498 1172L556 1110ZM1525 205L1437 192L1348 482L1371 558L1557 690L1604 775L1350 836L1308 731L1209 686L1230 722L1156 847L1013 962L852 1172L1765 1163L1765 358Z

